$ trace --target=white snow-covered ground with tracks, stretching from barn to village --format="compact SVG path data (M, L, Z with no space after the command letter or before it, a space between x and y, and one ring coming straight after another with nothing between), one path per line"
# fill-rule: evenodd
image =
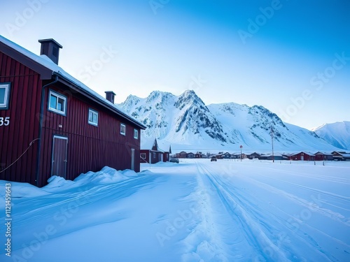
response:
M0 181L0 261L350 261L350 162L142 169L10 182L10 256Z

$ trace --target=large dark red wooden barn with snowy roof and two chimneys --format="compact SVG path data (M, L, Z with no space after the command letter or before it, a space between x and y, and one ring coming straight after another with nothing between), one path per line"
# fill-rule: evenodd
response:
M64 72L59 45L41 55L0 36L0 179L38 187L52 175L73 180L104 166L139 171L146 126Z

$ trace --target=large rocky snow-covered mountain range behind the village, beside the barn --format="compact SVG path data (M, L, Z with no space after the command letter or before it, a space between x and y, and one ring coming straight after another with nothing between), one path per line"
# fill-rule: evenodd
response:
M141 147L148 148L155 138L167 150L244 150L279 151L336 150L316 133L283 123L261 105L221 103L205 105L193 90L180 96L154 91L145 99L128 96L118 106L147 126L141 132Z

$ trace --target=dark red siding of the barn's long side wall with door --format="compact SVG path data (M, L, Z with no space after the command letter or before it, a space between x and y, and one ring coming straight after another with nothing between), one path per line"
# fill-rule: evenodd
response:
M67 96L66 116L48 111L48 92L53 90ZM96 110L98 126L88 124L88 110ZM94 105L80 94L72 94L59 84L45 89L42 141L41 141L41 181L46 183L51 173L52 138L54 135L68 138L68 159L66 179L73 180L80 173L97 171L104 166L117 170L131 168L132 148L134 148L134 168L139 172L139 140L134 138L134 129L138 127L116 118L111 112ZM120 123L126 126L126 135L120 134ZM62 128L59 127L62 125Z

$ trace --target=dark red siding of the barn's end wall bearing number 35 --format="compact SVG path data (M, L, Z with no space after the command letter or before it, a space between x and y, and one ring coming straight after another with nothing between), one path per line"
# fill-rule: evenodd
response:
M39 79L38 73L0 52L0 82L11 82L9 108L0 110L0 117L10 117L8 126L0 126L0 172L38 138ZM35 184L37 145L38 140L13 166L0 173L0 179Z

